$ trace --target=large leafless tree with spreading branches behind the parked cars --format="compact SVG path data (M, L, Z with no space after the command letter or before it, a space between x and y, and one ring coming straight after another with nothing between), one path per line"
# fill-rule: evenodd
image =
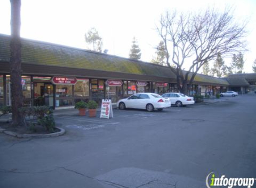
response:
M176 11L162 15L156 29L164 41L167 64L176 74L179 90L188 93L198 70L218 53L245 48L245 26L245 22L242 25L235 22L228 8L223 12L208 8L205 12L186 15ZM176 68L171 67L170 61ZM185 62L189 63L186 72Z

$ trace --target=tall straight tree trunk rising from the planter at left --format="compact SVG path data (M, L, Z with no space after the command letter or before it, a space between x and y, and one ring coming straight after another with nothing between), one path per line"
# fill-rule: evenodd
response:
M21 0L11 2L11 42L10 42L10 73L11 73L11 96L13 126L24 125L22 114L22 85L21 85Z

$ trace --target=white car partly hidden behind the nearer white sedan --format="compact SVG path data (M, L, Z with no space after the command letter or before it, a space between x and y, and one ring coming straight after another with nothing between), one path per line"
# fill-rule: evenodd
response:
M193 97L188 97L187 95L181 93L166 93L162 96L168 97L171 101L171 104L175 104L177 107L191 105L195 103Z

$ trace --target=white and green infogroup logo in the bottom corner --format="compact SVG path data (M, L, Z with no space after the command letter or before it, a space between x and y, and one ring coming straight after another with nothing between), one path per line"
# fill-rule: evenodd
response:
M210 172L206 176L206 187L214 188L214 186L227 186L233 188L234 186L251 188L256 181L256 178L225 178L225 175L220 178L215 177L214 172Z

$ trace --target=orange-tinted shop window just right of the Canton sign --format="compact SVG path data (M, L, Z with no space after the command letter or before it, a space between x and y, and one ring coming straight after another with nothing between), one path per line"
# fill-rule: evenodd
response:
M79 78L75 85L75 96L76 97L88 97L89 96L89 80Z

